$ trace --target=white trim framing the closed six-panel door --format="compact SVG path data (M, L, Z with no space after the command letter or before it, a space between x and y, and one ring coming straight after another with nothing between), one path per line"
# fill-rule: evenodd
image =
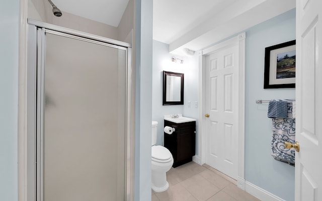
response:
M199 127L198 127L198 154L196 162L199 164L205 163L206 153L205 153L205 131L206 123L205 116L206 114L206 56L214 51L220 50L224 47L230 46L231 43L238 44L239 48L239 111L238 111L238 125L239 125L239 136L238 136L238 175L237 175L237 186L245 190L245 41L246 33L238 34L237 36L225 40L219 44L211 46L209 48L203 49L199 52Z

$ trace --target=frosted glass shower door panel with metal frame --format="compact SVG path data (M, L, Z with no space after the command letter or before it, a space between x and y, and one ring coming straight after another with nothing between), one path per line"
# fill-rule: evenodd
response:
M44 44L40 200L125 200L126 48L54 31Z

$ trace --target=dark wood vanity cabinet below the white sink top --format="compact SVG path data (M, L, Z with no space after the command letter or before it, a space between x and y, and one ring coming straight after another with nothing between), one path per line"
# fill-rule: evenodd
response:
M196 122L174 123L165 120L165 127L175 128L171 135L164 133L165 147L174 158L173 167L192 161L196 150Z

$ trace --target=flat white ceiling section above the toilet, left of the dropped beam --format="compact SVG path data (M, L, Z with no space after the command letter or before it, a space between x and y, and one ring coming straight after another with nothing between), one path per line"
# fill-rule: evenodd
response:
M237 0L153 0L153 39L171 44Z

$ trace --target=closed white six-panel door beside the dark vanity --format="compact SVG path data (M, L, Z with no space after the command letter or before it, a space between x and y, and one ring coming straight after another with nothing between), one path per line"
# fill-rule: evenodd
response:
M220 46L220 45L219 45ZM206 164L237 180L238 43L206 56Z

